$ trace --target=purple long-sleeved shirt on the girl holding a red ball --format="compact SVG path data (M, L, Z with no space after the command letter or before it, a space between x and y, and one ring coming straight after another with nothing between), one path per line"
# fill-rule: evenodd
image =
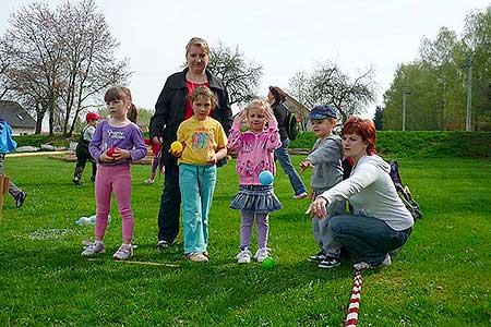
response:
M110 147L118 147L130 150L131 161L139 160L146 156L146 147L143 141L142 130L130 123L124 128L115 128L105 120L97 124L94 137L88 149L93 158L104 166L116 166L130 162L129 158L113 162L100 162L100 155Z

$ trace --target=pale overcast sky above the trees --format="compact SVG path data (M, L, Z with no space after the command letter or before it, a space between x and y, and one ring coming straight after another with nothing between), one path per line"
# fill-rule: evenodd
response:
M13 12L29 0L1 0L0 34ZM52 8L60 0L50 0ZM423 37L445 26L460 35L467 13L491 5L481 0L96 0L119 58L129 58L133 102L154 109L166 78L180 71L184 47L199 36L209 46L239 47L247 61L263 66L259 89L288 88L299 71L337 63L352 77L373 68L376 101L391 86L398 64L418 58Z

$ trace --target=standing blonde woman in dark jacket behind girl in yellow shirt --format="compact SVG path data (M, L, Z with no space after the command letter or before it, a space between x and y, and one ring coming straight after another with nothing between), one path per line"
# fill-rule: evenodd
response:
M206 70L209 62L209 47L202 38L193 37L185 46L188 66L172 74L166 81L149 123L153 143L164 144L163 160L165 166L164 192L158 213L158 242L156 247L169 247L179 233L179 211L181 192L179 190L179 169L177 158L168 153L170 144L177 138L179 124L193 116L190 97L193 89L207 86L215 94L217 104L211 117L221 123L228 134L232 123L232 112L224 83ZM217 162L225 165L226 158Z

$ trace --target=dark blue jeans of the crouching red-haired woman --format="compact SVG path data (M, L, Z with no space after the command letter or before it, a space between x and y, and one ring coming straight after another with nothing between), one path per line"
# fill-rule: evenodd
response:
M395 231L385 221L362 215L331 217L328 228L334 240L344 245L358 262L379 266L390 251L403 246L410 228Z

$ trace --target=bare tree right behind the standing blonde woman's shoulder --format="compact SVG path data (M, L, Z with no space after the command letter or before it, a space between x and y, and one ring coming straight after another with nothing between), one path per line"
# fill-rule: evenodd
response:
M230 96L230 105L247 102L255 96L263 68L246 62L239 47L232 51L221 43L212 47L208 69L224 81Z

